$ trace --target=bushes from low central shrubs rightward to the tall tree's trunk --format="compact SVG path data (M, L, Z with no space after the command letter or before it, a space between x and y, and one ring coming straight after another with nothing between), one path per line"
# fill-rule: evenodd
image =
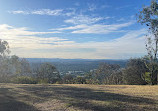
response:
M64 83L68 84L110 84L110 85L146 85L152 84L148 75L148 68L143 58L129 59L126 67L118 64L103 63L94 72L89 72L82 77L65 75Z

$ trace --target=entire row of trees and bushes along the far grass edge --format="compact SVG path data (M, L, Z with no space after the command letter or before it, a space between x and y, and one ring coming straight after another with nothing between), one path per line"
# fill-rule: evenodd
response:
M102 63L97 70L84 76L61 76L51 63L36 64L31 68L30 63L16 55L9 56L7 41L0 40L0 82L1 83L63 83L63 84L152 84L150 76L150 59L129 59L124 68L118 64ZM157 67L154 66L156 69Z

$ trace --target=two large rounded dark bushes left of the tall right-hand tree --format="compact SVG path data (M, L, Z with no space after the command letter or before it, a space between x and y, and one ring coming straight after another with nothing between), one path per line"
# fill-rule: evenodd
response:
M147 84L141 77L146 71L148 70L142 59L130 59L126 68L104 63L84 78L87 84Z

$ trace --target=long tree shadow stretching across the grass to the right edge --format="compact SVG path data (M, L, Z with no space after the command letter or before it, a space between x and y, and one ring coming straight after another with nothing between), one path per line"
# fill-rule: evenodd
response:
M21 87L42 98L58 99L81 110L93 111L158 111L156 101L148 98L121 95L103 90L92 90L63 85ZM95 102L91 102L95 101ZM99 104L101 102L101 104ZM139 107L143 105L143 107ZM148 107L146 107L148 106ZM149 107L152 106L152 107Z

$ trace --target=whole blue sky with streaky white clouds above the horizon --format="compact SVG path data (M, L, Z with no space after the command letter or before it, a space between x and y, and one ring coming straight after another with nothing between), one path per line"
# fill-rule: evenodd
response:
M129 59L146 55L136 14L150 0L0 0L0 39L23 58Z

